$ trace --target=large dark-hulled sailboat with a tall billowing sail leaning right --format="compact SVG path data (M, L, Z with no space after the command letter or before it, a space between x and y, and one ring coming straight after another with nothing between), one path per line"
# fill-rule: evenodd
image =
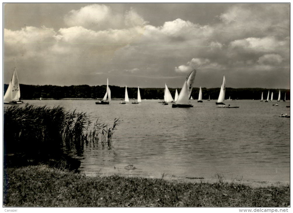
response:
M196 74L196 70L194 69L193 71L191 71L191 73L187 76L186 80L183 83L182 89L179 93L178 99L176 100L176 103L172 104L172 108L176 108L176 107L193 107L193 105L191 105L189 103L189 97L191 94L191 90L193 87L193 82L194 82L194 78L195 78L195 74ZM190 91L190 93L189 93Z

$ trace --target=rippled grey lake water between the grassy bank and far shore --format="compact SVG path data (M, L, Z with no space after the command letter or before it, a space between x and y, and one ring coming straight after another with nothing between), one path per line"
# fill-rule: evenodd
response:
M218 108L216 100L193 108L172 108L159 100L140 104L96 105L94 100L26 100L87 112L93 122L122 120L111 149L88 145L80 171L86 175L142 176L170 179L221 174L227 181L290 181L290 101L225 101L240 108ZM132 163L137 169L126 170Z

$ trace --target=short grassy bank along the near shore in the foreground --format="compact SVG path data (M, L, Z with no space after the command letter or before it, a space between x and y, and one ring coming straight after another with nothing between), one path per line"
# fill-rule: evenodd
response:
M8 168L4 206L286 207L290 187L178 183L121 176L86 177L48 166Z

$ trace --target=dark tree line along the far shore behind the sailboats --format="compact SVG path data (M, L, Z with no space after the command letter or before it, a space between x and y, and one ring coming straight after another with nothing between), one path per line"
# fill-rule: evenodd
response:
M4 94L7 90L8 85L4 84ZM109 86L111 89L112 98L124 98L125 87L120 86ZM181 88L169 88L173 98L175 97L175 91L180 92ZM142 99L163 99L164 98L164 88L139 88L140 95ZM255 99L261 98L261 93L263 92L263 98L266 99L268 95L268 90L273 92L273 99L276 100L279 95L279 89L268 89L268 88L226 88L225 98L231 99ZM284 99L286 93L286 99L290 99L289 89L281 90L281 100ZM21 99L35 99L35 98L103 98L106 92L106 85L101 86L88 86L88 85L78 85L78 86L53 86L53 85L26 85L20 84ZM129 98L137 98L137 88L129 87L127 88ZM202 98L217 99L219 96L220 88L202 88ZM199 88L193 88L191 96L194 99L198 98Z

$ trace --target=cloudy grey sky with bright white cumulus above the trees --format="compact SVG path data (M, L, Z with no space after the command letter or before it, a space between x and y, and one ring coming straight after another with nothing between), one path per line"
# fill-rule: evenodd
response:
M290 88L290 4L7 3L4 83Z

